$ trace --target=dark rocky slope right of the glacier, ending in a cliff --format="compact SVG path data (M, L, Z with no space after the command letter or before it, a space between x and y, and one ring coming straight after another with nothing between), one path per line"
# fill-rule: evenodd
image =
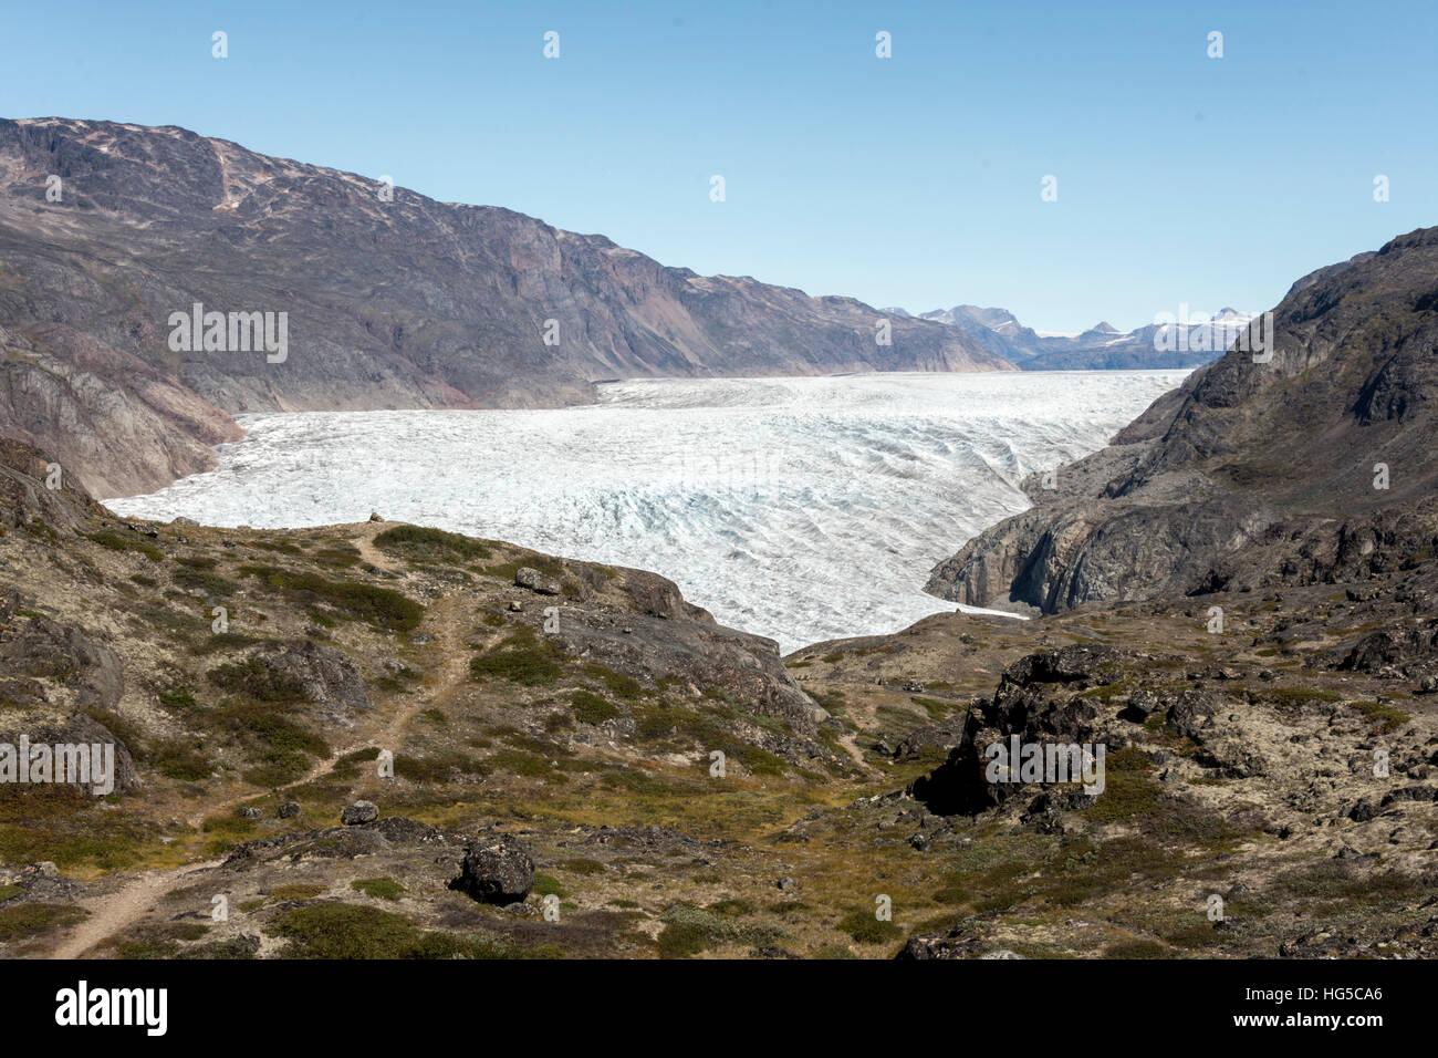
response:
M1304 276L1274 309L1271 361L1234 348L1057 488L1032 479L1035 507L928 590L1058 612L1421 561L1438 538L1435 347L1438 229Z

